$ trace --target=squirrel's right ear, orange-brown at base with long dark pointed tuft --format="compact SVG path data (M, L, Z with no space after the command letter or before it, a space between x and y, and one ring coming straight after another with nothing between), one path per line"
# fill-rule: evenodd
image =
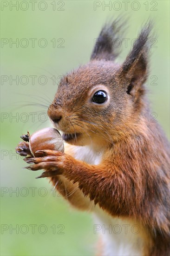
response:
M125 79L127 94L138 96L144 94L144 84L148 74L148 38L151 30L150 22L139 34L130 54L124 61L120 76Z

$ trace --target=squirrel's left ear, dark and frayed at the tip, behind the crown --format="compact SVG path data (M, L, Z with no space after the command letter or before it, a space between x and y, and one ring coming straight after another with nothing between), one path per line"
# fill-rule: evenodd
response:
M98 38L95 39L91 60L113 61L118 56L118 47L114 47L114 45L116 45L116 39L119 38L119 31L123 27L120 19L107 23L102 28Z

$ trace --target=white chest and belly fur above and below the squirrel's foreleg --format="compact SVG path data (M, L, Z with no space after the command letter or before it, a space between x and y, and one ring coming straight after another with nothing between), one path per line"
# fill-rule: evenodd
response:
M89 147L74 147L74 157L89 164L99 164L102 153ZM112 217L97 205L94 234L102 237L102 256L144 256L146 230L135 220Z

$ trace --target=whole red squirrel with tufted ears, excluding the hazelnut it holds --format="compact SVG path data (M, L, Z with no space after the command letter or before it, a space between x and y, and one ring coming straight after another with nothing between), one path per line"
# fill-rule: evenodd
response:
M28 169L44 169L40 177L57 183L72 206L91 211L95 224L126 225L126 234L101 230L98 255L168 256L169 143L152 121L144 85L151 25L142 28L122 64L115 62L117 30L117 20L103 27L90 62L61 79L48 108L65 153L42 150L33 158L26 141L16 151L28 155Z

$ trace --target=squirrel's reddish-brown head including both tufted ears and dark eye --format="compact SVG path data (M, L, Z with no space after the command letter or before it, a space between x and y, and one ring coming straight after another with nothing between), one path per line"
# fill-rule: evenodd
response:
M140 115L144 109L150 23L141 30L123 64L115 63L113 41L118 31L118 20L106 24L90 62L59 83L48 115L70 144L111 145L132 127L131 121L124 120L126 113Z

